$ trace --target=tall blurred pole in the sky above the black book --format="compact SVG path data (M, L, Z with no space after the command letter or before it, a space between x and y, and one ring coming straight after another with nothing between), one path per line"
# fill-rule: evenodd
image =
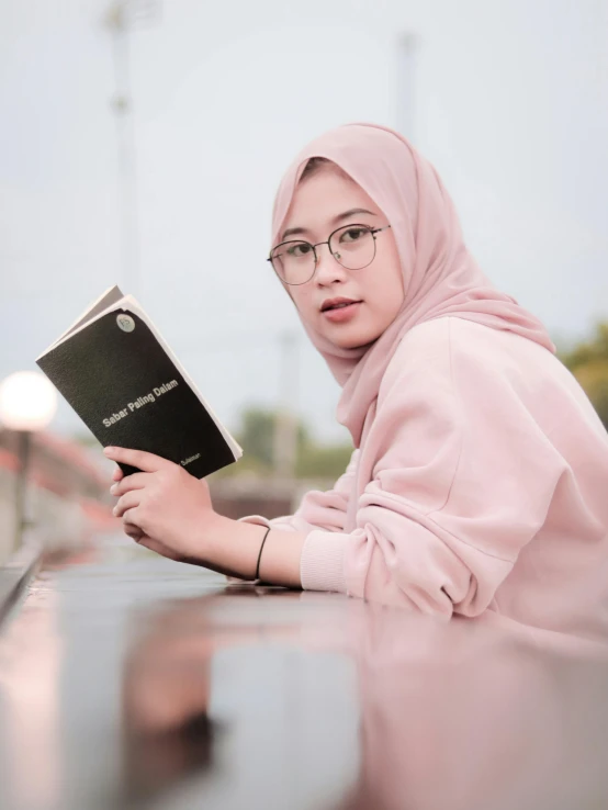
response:
M149 24L158 16L159 0L113 0L105 18L112 35L114 97L119 164L119 215L121 228L121 282L124 292L138 292L139 233L137 215L137 171L131 90L130 31Z

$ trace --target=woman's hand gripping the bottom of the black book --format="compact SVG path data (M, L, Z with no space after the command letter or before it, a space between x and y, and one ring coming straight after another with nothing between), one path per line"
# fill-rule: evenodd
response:
M206 481L195 479L178 464L142 450L106 448L113 461L142 472L114 473L111 493L119 498L114 515L123 519L125 533L142 545L180 562L205 564L205 530L219 516L213 510Z

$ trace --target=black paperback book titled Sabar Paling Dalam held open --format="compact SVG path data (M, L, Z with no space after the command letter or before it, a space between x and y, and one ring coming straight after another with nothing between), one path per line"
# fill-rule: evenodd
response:
M36 363L104 447L146 450L198 479L241 455L142 306L117 286Z

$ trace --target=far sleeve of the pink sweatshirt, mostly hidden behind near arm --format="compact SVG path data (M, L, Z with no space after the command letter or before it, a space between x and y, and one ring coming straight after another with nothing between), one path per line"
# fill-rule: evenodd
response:
M240 520L259 526L268 526L284 531L313 531L322 529L326 532L344 531L346 513L352 492L354 471L359 451L354 450L350 457L346 472L340 475L331 490L307 492L296 511L285 517L268 520L261 515L248 515Z

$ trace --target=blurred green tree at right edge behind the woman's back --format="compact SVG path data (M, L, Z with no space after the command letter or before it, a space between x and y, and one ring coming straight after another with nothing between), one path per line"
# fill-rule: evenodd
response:
M560 358L578 380L608 430L608 323L598 324L589 340L561 351Z

